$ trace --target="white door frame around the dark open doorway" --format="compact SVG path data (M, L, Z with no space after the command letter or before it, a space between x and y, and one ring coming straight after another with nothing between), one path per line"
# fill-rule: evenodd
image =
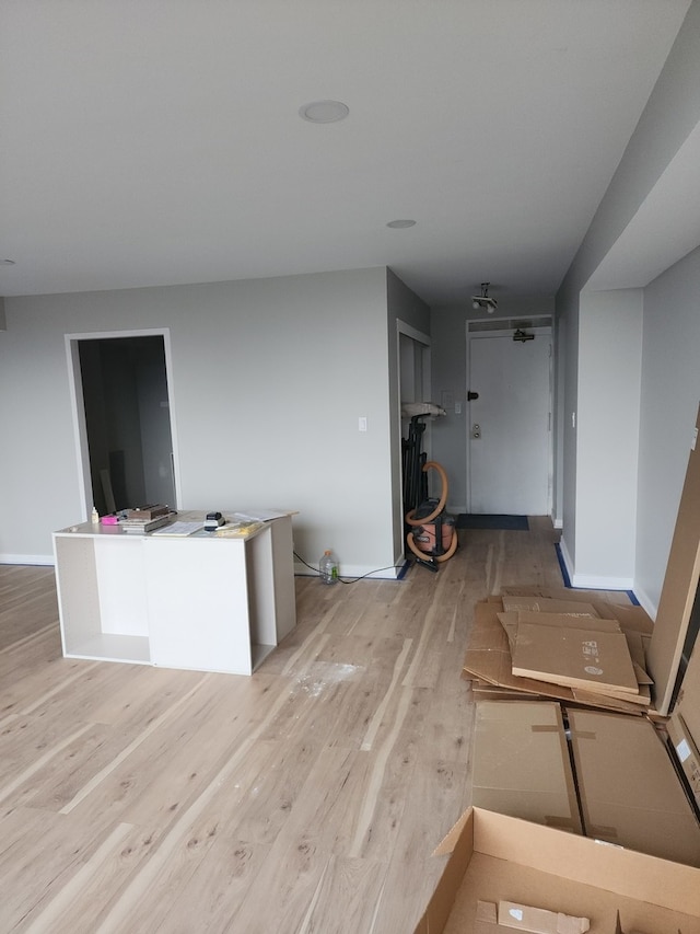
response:
M92 478L90 472L90 450L88 447L88 425L85 422L85 404L83 399L83 381L80 370L81 341L103 341L110 337L162 337L165 351L165 380L167 382L168 415L171 422L171 438L173 443L173 482L175 485L175 509L182 501L179 457L177 449L177 429L175 423L175 402L173 388L173 358L171 353L170 327L143 328L140 331L91 331L80 334L66 334L66 355L68 357L68 380L70 404L73 418L73 436L75 439L75 462L78 464L79 498L83 504L83 520L92 510Z

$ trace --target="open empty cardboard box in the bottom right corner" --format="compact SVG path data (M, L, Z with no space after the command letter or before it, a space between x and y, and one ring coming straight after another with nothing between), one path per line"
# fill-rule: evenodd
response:
M700 870L469 808L435 851L448 855L413 934L475 934L478 901L591 919L592 934L700 934Z

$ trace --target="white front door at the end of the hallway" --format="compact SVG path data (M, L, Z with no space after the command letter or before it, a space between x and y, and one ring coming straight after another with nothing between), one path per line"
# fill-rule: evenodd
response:
M551 487L551 328L532 339L487 331L468 336L469 511L545 516Z

